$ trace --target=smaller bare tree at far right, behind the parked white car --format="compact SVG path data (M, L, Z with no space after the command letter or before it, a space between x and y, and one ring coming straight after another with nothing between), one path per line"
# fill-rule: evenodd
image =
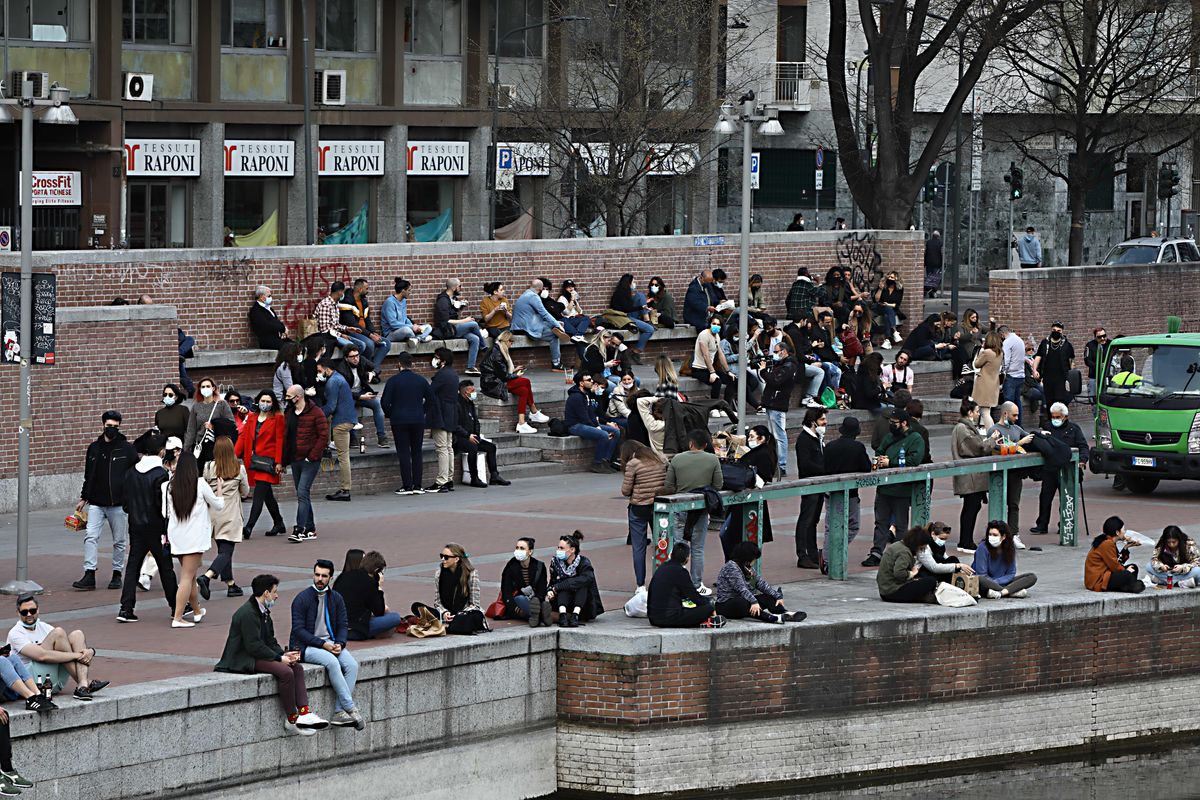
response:
M994 95L1028 115L1007 139L1067 184L1069 264L1084 259L1087 191L1193 136L1198 44L1190 4L1062 0L1039 10L1002 46ZM1066 146L1040 146L1048 138Z

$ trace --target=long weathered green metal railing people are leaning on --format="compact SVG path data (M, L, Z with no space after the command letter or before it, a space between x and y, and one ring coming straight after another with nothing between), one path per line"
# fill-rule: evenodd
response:
M762 506L772 500L799 498L810 494L835 494L842 497L841 513L830 519L828 551L829 577L845 581L847 577L850 492L852 489L878 488L881 486L911 485L912 512L911 524L924 525L929 522L930 498L936 479L953 479L955 475L988 475L988 505L996 511L994 517L1004 518L1008 509L1008 476L1014 470L1042 469L1045 461L1038 453L1024 456L989 456L986 458L965 458L923 467L899 467L880 469L872 473L854 473L828 475L800 481L767 483L761 489L745 492L721 492L721 505L726 513L742 515L742 535L746 541L760 542ZM1058 480L1058 543L1075 547L1076 541L1076 498L1079 497L1079 455L1072 453L1070 464L1063 467ZM670 494L654 498L653 530L654 566L666 563L674 545L676 515L702 510L704 498L700 494ZM826 513L829 505L826 505ZM775 518L790 515L779 513ZM902 534L904 531L896 531ZM1018 534L1020 531L1013 531Z

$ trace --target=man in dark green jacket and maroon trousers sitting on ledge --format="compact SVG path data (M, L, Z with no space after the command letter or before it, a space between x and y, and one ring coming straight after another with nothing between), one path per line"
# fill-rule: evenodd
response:
M271 608L280 599L280 579L274 575L258 575L250 587L254 596L233 613L224 650L214 669L274 678L283 708L283 730L311 736L328 728L329 722L308 708L300 652L284 650L275 638Z

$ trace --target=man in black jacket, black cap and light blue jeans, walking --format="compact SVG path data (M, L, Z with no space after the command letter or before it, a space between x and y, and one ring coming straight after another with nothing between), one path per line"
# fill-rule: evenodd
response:
M104 429L100 438L88 445L88 457L83 468L83 491L76 511L88 506L88 533L83 539L83 577L71 585L80 591L96 588L96 563L100 559L100 531L108 522L113 534L113 579L109 589L121 588L121 570L125 569L125 542L128 519L121 504L125 501L125 475L138 461L138 453L121 434L121 413L104 411L101 415Z

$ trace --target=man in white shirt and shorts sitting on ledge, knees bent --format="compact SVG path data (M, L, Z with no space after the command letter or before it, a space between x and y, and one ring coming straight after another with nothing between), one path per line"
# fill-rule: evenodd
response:
M88 646L83 631L67 633L38 619L37 599L22 595L17 599L17 615L20 618L8 631L8 644L20 656L35 681L49 678L55 692L62 691L67 678L76 681L73 697L90 700L91 696L108 686L107 680L90 680L88 674L96 657L96 648Z

